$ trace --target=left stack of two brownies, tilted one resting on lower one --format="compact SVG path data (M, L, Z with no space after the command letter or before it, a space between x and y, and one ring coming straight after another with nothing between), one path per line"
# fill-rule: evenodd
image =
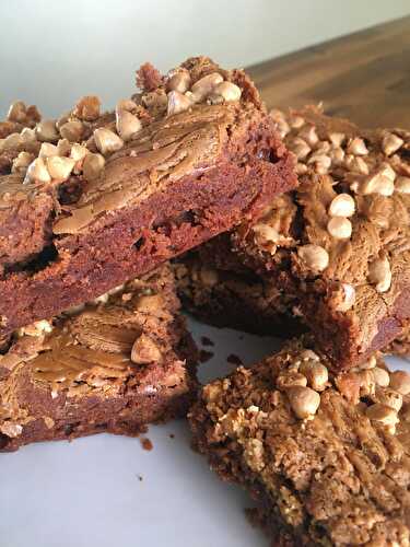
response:
M296 186L242 70L188 59L102 113L0 125L0 449L184 415L196 350L167 260Z

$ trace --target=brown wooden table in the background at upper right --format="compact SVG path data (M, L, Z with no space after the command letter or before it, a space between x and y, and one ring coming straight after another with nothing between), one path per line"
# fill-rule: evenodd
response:
M323 101L363 127L410 128L410 16L248 70L269 107Z

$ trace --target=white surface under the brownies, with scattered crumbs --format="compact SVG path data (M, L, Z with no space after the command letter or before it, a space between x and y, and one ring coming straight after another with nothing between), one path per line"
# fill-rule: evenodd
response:
M192 330L199 347L202 335L215 342L204 348L215 357L201 365L202 382L233 370L230 353L250 364L279 347L194 322ZM245 519L247 496L191 451L184 421L151 427L147 437L151 452L139 439L102 434L0 454L0 547L269 545Z

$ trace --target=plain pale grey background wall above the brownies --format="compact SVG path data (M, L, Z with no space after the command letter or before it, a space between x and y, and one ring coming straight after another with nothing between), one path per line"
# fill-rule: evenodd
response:
M0 0L0 117L15 98L47 116L91 93L110 107L145 60L246 66L409 13L409 0Z

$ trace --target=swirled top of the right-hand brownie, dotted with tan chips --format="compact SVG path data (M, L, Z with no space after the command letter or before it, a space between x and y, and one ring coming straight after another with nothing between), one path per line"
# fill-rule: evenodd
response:
M368 347L410 280L410 132L360 130L317 107L271 115L300 186L242 226L237 245L268 269L290 264L314 281L335 313L359 317Z

